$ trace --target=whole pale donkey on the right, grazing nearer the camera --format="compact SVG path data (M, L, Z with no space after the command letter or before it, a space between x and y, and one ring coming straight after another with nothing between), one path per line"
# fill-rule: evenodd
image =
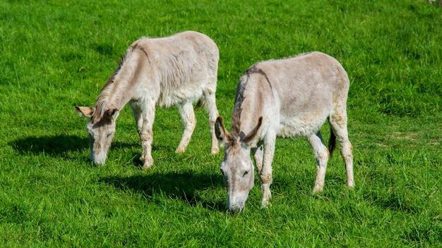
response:
M253 187L253 164L261 177L262 206L267 206L272 182L276 137L304 136L316 157L313 193L323 190L327 161L335 139L347 170L347 185L354 187L352 144L347 135L347 93L350 82L335 58L313 51L293 58L270 60L251 66L239 79L228 132L218 117L217 138L225 148L220 164L227 187L227 209L244 209ZM329 149L320 128L328 119ZM336 136L335 136L336 135Z

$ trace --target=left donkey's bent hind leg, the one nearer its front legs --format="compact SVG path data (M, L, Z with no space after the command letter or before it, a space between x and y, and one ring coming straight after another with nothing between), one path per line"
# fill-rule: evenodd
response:
M181 120L183 121L184 132L183 136L181 137L181 142L179 142L179 145L175 152L183 153L184 151L186 151L186 148L191 141L193 130L196 126L196 118L195 113L193 112L191 101L186 101L184 104L179 104L178 110L181 114Z

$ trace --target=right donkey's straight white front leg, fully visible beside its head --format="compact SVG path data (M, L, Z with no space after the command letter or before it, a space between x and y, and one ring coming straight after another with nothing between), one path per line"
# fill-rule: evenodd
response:
M268 200L272 198L270 193L270 184L272 184L272 162L273 155L275 155L275 135L268 135L268 138L263 144L263 167L261 169L261 190L263 192L263 199L261 199L261 206L265 207L269 205ZM258 155L259 156L259 155Z

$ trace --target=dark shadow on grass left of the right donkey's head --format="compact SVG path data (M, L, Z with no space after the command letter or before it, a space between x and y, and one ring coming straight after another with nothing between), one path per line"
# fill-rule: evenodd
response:
M123 192L141 193L146 199L161 204L164 197L178 199L190 206L201 204L205 209L225 211L225 202L211 202L201 197L210 188L224 188L218 175L205 175L196 172L169 172L129 177L109 176L99 180ZM208 192L207 194L210 194ZM158 197L164 196L164 197ZM209 197L213 199L213 197Z

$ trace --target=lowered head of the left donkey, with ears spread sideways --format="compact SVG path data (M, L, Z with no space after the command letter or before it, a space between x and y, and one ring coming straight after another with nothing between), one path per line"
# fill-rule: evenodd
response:
M89 134L90 159L97 164L106 161L107 151L115 133L115 120L119 116L119 110L106 109L97 113L95 108L76 106L80 116L90 118L86 130Z

